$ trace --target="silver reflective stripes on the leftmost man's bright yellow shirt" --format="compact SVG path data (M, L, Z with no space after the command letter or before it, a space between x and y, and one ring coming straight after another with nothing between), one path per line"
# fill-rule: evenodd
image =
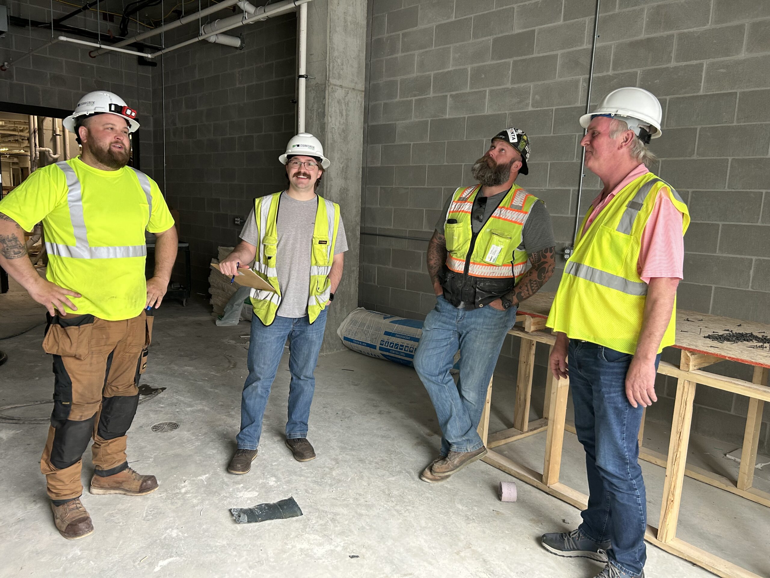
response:
M73 259L115 259L122 257L145 257L146 245L124 245L117 247L91 247L89 245L88 230L85 228L83 217L82 186L75 170L65 161L56 163L56 166L64 173L67 183L67 205L69 206L69 220L72 222L72 234L75 236L75 245L52 243L46 241L45 250L56 257L71 257ZM130 167L129 167L130 168ZM152 216L152 193L149 177L146 174L132 169L139 178L149 205L149 214ZM148 220L149 222L149 220Z

